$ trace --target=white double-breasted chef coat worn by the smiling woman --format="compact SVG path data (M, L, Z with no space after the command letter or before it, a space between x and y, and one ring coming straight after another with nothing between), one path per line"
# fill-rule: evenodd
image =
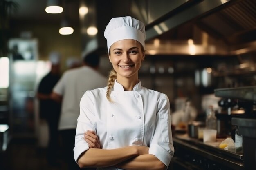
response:
M149 90L139 82L133 91L124 91L115 81L111 92L112 102L106 98L107 88L98 88L81 98L77 119L74 159L88 150L84 132L94 130L101 148L115 149L125 146L149 146L149 154L155 155L167 167L174 154L170 106L168 97ZM98 170L119 170L115 167Z

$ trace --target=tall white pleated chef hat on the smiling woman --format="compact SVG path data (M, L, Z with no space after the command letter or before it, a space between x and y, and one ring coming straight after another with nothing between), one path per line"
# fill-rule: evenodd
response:
M124 39L137 40L145 48L145 26L130 16L112 18L106 26L104 37L107 39L108 52L113 43Z

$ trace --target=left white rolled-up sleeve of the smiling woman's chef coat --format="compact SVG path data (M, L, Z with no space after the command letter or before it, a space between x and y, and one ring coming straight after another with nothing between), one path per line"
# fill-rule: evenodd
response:
M86 91L80 101L80 115L77 119L76 137L74 146L74 159L77 162L79 156L89 149L88 143L84 139L84 133L88 130L96 131L95 115L93 113L94 104L90 91Z

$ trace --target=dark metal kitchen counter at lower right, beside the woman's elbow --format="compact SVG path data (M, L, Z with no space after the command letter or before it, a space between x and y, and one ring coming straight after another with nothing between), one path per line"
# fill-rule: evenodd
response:
M227 151L204 144L198 139L178 135L173 137L173 145L175 148L175 155L171 162L173 169L181 169L180 166L183 166L184 170L245 169L243 166L243 152ZM177 166L177 164L179 165Z

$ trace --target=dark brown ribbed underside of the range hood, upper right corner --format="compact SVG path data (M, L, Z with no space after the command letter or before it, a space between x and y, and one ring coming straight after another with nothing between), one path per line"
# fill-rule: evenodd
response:
M214 14L205 16L196 24L227 44L238 45L255 40L256 1L242 0Z

